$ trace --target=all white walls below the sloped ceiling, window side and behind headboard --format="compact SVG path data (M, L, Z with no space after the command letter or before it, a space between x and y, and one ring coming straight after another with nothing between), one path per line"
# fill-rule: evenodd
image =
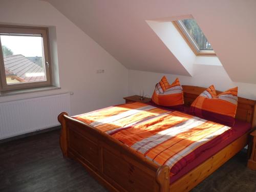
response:
M2 0L0 23L55 27L56 42L53 47L56 47L56 50L52 50L52 53L58 54L55 61L58 62L61 87L60 90L54 91L0 96L0 102L74 92L71 96L71 115L74 115L122 103L123 96L139 94L140 89L151 96L155 84L163 75L127 70L47 2ZM200 64L207 64L201 62ZM104 69L105 73L96 74L97 69ZM166 76L170 82L179 77L182 84L202 87L215 84L216 89L220 91L238 86L240 96L256 99L256 84L232 82L222 66L194 63L193 77Z

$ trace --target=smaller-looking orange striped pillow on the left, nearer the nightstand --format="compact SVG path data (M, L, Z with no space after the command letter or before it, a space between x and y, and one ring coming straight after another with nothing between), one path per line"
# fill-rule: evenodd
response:
M169 84L166 77L163 76L161 81L156 84L152 101L158 105L183 110L183 90L179 79L177 78L172 84Z

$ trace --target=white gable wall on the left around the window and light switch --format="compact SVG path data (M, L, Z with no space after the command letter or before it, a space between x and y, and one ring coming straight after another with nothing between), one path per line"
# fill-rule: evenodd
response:
M61 87L54 91L1 96L0 102L74 92L71 115L123 102L122 97L127 95L127 69L49 3L2 0L0 23L56 27L57 52L52 50L52 53L58 54L55 61ZM105 73L96 74L97 69L104 69Z

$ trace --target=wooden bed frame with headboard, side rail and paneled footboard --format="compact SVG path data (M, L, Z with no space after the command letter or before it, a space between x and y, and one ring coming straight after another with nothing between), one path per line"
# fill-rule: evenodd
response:
M190 105L205 88L182 86L185 105ZM217 92L220 93L220 92ZM256 125L255 101L238 98L237 119ZM60 147L64 157L80 162L110 191L167 192L189 191L244 148L249 132L169 185L169 167L147 160L108 134L75 120L63 112Z

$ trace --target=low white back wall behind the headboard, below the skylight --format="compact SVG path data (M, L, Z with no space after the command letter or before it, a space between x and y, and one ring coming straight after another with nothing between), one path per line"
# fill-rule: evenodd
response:
M144 94L151 97L156 83L165 75L169 83L178 77L181 84L200 87L214 84L219 91L238 86L239 96L256 100L256 84L232 82L222 66L194 64L193 68L193 77L129 70L128 94L139 95L140 90L144 90Z

